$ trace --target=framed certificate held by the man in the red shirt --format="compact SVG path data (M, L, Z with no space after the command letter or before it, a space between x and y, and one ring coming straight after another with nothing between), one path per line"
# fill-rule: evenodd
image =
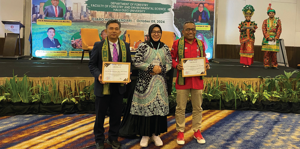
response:
M205 57L181 59L182 77L206 76Z

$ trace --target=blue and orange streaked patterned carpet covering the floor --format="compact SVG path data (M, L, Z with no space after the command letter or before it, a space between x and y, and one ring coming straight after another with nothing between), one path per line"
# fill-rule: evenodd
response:
M203 111L205 144L193 138L191 113L186 114L185 145L176 143L175 117L168 117L164 145L149 142L147 148L164 149L300 149L300 114L260 111ZM94 143L94 114L18 115L0 117L1 149L79 149ZM107 135L109 117L106 118ZM140 139L119 138L122 148L141 148ZM105 143L106 148L111 146ZM91 147L93 149L95 147ZM146 148L145 148L146 149Z

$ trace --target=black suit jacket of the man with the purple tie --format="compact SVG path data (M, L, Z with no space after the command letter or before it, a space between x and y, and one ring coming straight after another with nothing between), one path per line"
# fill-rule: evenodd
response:
M104 44L105 40L102 40L101 42L95 42L94 47L91 52L90 61L88 62L88 67L90 68L91 74L95 77L95 86L94 86L94 94L96 96L103 97L103 84L101 84L98 80L99 75L102 73L102 46ZM126 47L126 62L131 63L131 54L130 54L130 48L129 44L127 42L125 43ZM108 61L113 62L112 56L110 53L110 46L108 45ZM118 62L122 62L122 50L121 45L119 41L119 60ZM118 85L119 88L116 88L116 91L119 90L120 94L124 94L126 91L126 85L121 86ZM114 89L115 90L115 89Z

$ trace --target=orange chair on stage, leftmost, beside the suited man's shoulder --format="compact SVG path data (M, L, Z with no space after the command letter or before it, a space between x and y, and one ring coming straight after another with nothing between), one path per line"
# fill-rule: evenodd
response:
M82 39L82 56L81 61L85 52L88 52L90 55L90 51L93 49L95 42L100 42L100 37L97 29L93 28L82 28L81 29L81 39Z

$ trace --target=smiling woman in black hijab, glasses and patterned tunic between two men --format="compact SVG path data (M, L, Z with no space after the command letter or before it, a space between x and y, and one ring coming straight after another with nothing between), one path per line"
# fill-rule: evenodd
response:
M149 139L156 146L163 145L159 135L167 132L169 113L166 73L172 68L169 47L160 41L161 27L152 24L148 33L149 41L139 44L134 57L134 66L140 70L130 110L143 136L141 147L147 147Z

